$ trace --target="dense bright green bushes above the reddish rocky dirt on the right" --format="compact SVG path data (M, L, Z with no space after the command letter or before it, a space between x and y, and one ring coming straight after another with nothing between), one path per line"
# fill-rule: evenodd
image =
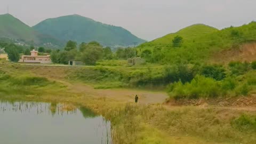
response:
M256 71L247 62L230 62L228 68L203 66L191 82L175 82L168 86L170 97L197 99L249 95L256 90Z

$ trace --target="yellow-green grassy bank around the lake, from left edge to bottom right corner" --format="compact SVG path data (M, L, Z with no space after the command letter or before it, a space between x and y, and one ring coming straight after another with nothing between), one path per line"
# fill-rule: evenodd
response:
M40 68L1 70L0 97L4 100L68 102L91 108L111 121L115 143L253 143L255 112L223 108L135 105L106 97L74 93L54 82L52 71L38 76ZM17 72L20 72L17 75ZM31 73L34 71L34 74ZM65 70L70 71L70 69ZM68 73L69 74L69 73ZM47 77L47 78L46 78ZM66 78L63 76L62 78Z

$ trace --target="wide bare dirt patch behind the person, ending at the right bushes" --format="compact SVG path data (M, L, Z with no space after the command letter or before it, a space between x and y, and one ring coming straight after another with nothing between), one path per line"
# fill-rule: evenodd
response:
M68 91L73 93L82 93L90 95L94 98L109 98L117 101L134 102L136 94L139 96L139 103L163 103L168 97L165 92L154 92L146 90L132 90L132 89L94 89L90 85L82 83L71 84L66 81L58 81L68 86Z

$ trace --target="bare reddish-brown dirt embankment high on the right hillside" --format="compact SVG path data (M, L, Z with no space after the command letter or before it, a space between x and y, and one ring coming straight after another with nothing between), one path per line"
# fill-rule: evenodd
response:
M213 63L228 63L230 61L256 61L256 43L247 43L213 54Z

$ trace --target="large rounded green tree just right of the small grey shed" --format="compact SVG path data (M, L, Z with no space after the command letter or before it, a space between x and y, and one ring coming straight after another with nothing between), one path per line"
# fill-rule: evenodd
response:
M102 47L99 45L89 45L83 51L81 60L86 65L95 65L95 63L102 58Z

